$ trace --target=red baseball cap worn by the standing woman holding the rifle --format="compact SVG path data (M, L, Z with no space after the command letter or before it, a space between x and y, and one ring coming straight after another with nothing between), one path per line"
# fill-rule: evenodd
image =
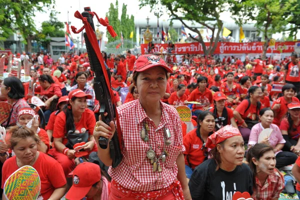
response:
M134 62L133 73L135 71L144 71L153 66L161 66L167 72L172 73L173 71L166 65L165 61L158 55L145 54L140 55Z

